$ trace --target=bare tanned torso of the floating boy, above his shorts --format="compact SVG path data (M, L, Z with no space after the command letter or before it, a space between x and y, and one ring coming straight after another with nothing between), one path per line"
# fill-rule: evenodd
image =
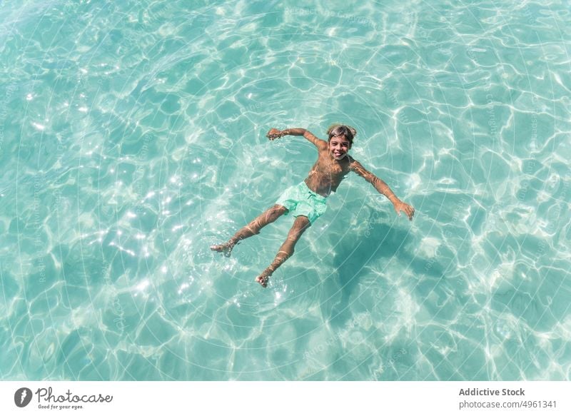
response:
M329 196L330 193L337 191L341 181L350 172L352 161L353 158L349 155L340 161L335 161L328 150L320 150L318 160L305 178L305 184L311 191L321 196Z

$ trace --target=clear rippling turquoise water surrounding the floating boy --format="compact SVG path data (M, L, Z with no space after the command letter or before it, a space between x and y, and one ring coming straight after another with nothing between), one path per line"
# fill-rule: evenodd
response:
M3 380L570 380L559 1L0 4ZM357 176L208 250L355 126Z

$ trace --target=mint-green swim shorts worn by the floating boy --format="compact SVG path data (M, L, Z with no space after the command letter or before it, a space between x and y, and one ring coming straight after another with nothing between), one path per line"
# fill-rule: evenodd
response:
M325 196L320 196L318 193L311 191L305 185L305 182L302 182L286 189L276 204L285 206L288 213L292 213L294 217L305 215L309 222L313 224L313 221L325 213L327 208L325 205L326 199ZM285 215L288 213L285 213Z

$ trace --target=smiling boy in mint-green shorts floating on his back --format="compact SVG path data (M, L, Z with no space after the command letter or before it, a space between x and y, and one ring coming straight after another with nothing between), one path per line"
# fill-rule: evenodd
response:
M266 135L270 140L283 136L303 136L313 143L318 148L318 159L315 165L309 171L305 181L285 190L276 202L276 205L238 230L227 243L211 246L211 250L218 251L218 253L223 253L226 257L229 257L234 245L244 238L259 234L263 227L273 223L281 215L291 212L295 217L295 221L288 233L288 238L281 245L271 265L256 278L256 282L260 283L263 288L266 288L268 285L268 279L273 272L293 255L295 243L298 242L303 231L313 224L320 215L325 213L326 198L330 193L337 191L339 184L349 172L355 172L359 176L363 176L365 181L372 184L379 193L386 196L393 203L398 215L400 215L400 211L403 211L408 215L409 220L413 219L415 209L412 206L400 201L385 182L367 171L358 161L349 156L348 151L353 145L353 138L357 135L355 128L334 124L328 129L327 134L329 140L323 141L313 136L305 128L286 128L283 131L272 128Z

